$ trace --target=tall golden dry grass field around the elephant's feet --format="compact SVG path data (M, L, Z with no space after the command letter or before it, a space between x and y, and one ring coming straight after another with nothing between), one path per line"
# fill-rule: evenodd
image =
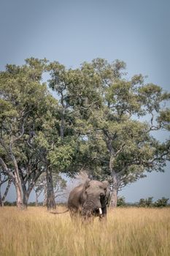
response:
M42 207L0 208L0 255L169 256L170 208L116 208L107 225L97 218L82 225Z

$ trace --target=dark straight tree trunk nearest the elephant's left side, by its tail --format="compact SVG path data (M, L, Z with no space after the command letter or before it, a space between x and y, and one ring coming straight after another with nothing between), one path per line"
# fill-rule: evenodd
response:
M46 179L47 179L47 210L55 209L55 194L53 189L53 176L52 170L47 168L46 170Z

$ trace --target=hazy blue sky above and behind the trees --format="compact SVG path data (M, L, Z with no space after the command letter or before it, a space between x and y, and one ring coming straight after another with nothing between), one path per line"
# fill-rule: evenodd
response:
M0 70L31 56L79 67L83 61L120 59L128 77L169 91L169 0L0 0ZM167 134L166 134L167 136ZM168 135L169 136L169 135ZM160 140L165 139L159 133ZM128 202L141 197L170 198L170 165L125 187ZM7 200L15 200L11 189ZM30 200L34 200L31 195Z

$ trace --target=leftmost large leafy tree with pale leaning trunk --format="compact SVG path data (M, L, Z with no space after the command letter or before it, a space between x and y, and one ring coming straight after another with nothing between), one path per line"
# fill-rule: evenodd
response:
M0 164L15 184L20 208L48 167L39 138L43 126L53 123L57 102L41 83L46 62L31 58L21 67L7 65L0 73Z

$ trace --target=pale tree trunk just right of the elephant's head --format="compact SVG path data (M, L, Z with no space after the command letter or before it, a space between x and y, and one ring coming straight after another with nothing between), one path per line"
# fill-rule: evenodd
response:
M115 208L117 206L117 192L119 188L117 173L112 173L112 192L109 206Z

